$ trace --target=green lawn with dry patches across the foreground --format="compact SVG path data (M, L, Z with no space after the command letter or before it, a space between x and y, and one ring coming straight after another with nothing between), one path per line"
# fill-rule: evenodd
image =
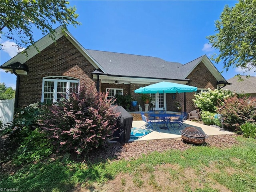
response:
M231 148L193 146L96 164L74 162L66 154L22 165L15 173L1 172L1 188L18 192L254 192L256 140L237 139L239 144Z

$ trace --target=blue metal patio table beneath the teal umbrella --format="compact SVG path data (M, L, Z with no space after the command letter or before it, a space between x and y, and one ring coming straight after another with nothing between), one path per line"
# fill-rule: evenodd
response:
M163 126L158 127L158 132L160 132L159 128L160 129L168 129L169 132L171 132L170 128L167 126L168 122L172 121L174 117L177 118L180 115L179 114L168 114L168 113L165 113L165 114L154 113L154 114L148 114L148 116L149 116L149 119L154 120L156 122L156 124L158 124L158 125L163 124ZM165 124L166 124L166 126L165 126ZM174 130L174 128L172 128L172 129ZM175 130L174 130L174 132L175 132Z

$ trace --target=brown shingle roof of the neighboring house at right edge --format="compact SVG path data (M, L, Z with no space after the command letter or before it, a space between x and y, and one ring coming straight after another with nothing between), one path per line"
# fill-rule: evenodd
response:
M228 80L232 85L227 85L225 88L237 92L237 93L256 93L256 76L246 76L241 75L243 81L238 81L238 77L234 76Z

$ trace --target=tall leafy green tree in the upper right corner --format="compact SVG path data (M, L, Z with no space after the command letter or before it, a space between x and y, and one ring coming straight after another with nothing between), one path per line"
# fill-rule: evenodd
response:
M256 0L239 0L234 7L225 6L215 22L215 35L206 38L219 54L212 56L216 63L224 61L226 71L241 67L248 72L256 67Z

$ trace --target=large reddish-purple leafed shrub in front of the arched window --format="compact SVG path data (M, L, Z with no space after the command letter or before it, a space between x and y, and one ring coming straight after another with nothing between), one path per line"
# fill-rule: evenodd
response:
M118 113L107 94L80 87L79 94L49 106L42 128L59 152L89 152L112 139Z

